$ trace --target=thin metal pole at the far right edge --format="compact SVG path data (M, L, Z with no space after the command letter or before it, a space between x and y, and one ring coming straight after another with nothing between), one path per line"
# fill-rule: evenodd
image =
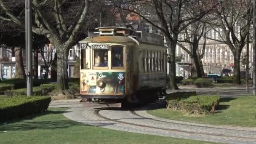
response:
M253 95L256 95L256 23L255 23L255 3L253 0Z

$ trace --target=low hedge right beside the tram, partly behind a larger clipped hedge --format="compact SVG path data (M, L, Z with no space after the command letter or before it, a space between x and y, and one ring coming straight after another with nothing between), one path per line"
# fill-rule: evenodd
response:
M179 104L178 102L189 98L189 96L195 96L197 93L196 91L191 91L191 92L175 92L175 93L169 93L165 97L165 101L167 104L167 108L172 108L174 110L179 109Z

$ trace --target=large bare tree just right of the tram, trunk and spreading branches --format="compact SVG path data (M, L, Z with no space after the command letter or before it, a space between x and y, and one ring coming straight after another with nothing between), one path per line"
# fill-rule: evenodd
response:
M134 3L134 0L127 0L126 4L123 5L132 5ZM135 5L137 5L136 10L129 9L127 6L115 6L125 11L132 11L138 14L142 19L152 24L163 33L171 56L169 84L171 89L176 89L175 53L178 35L190 24L202 19L203 16L211 11L212 8L215 8L218 3L211 3L211 6L208 4L206 6L204 0L136 0ZM148 11L145 11L145 9ZM158 21L156 21L156 19L158 19Z

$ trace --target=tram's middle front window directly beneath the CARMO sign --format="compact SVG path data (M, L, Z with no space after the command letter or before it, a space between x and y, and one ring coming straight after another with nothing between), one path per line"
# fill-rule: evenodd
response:
M94 67L108 66L107 51L108 50L94 50Z

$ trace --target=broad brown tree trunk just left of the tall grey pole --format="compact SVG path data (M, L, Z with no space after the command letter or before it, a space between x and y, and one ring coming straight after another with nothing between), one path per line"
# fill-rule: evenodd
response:
M25 70L24 70L24 64L23 64L23 58L22 58L22 51L20 47L14 48L15 51L15 78L21 78L25 79Z

